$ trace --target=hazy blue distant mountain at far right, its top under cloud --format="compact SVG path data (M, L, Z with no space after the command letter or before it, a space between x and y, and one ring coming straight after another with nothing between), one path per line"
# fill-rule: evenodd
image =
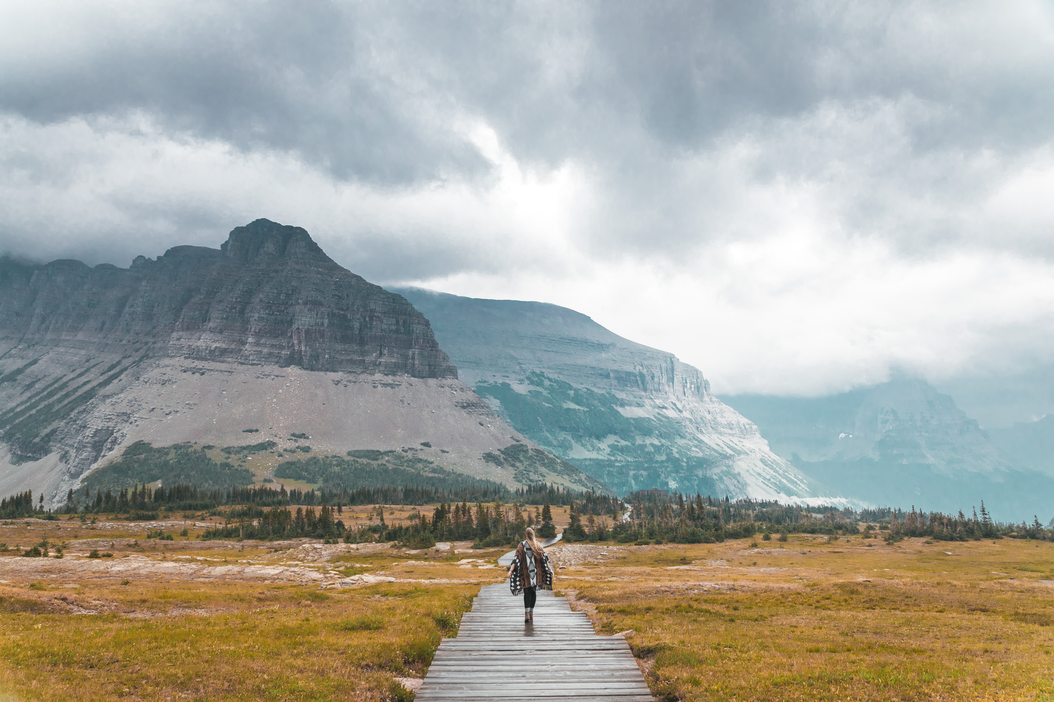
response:
M919 378L820 398L722 397L773 450L815 480L873 504L1046 519L1054 479L1002 450L978 423Z

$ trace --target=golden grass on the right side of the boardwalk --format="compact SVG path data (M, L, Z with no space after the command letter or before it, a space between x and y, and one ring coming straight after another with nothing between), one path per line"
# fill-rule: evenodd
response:
M747 543L630 549L562 586L600 633L635 629L659 698L1054 700L1054 545Z

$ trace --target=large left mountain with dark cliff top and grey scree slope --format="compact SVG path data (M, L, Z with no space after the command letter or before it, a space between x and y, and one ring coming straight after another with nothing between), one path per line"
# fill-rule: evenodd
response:
M0 494L64 497L140 440L291 433L316 454L413 447L509 485L605 489L505 424L413 305L299 227L260 219L218 249L176 246L129 268L0 260Z

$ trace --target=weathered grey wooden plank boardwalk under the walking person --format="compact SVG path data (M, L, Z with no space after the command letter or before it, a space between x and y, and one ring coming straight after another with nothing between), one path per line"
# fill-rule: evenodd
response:
M597 636L585 613L540 591L534 624L508 584L485 585L455 639L444 639L417 702L436 700L653 702L629 645Z

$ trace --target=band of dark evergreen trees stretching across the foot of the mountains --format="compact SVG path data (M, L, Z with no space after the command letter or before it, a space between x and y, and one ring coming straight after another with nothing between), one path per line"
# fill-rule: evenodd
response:
M805 506L766 500L731 500L696 494L657 495L632 493L626 498L577 493L539 483L502 496L480 499L477 486L457 495L455 489L414 485L340 489L286 489L285 486L200 489L194 485L151 487L140 484L121 490L97 489L95 495L70 490L65 505L45 510L42 500L34 504L32 490L0 500L0 519L21 517L57 518L59 514L126 515L128 519L153 519L160 510L209 509L226 515L227 524L207 531L204 538L288 539L312 537L348 542L398 541L417 547L436 541L473 541L481 546L515 543L527 526L542 538L555 535L551 506L569 505L570 523L564 539L621 543L703 543L733 538L762 539L787 534L859 534L898 541L906 537L964 541L971 539L1021 538L1054 541L1054 530L1038 517L1031 523L998 522L984 507L970 516L940 512L910 512L891 507L859 512L847 507ZM476 499L470 499L476 498ZM507 502L504 500L508 500ZM370 523L349 527L338 517L346 506L382 505L370 513ZM384 505L437 504L429 516L414 512L405 524L389 525ZM220 507L229 507L223 510ZM266 509L270 507L270 509ZM295 510L293 509L295 507ZM876 530L873 524L878 525ZM877 531L877 533L876 533Z

